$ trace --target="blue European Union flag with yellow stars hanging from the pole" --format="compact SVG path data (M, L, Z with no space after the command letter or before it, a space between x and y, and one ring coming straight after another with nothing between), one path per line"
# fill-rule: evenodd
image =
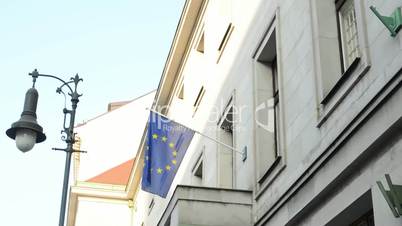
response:
M193 130L151 111L142 190L166 197L193 136Z

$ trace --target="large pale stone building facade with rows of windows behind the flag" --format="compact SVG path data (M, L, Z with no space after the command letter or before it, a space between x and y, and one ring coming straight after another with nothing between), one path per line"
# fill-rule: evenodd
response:
M402 36L371 5L402 1L187 0L153 109L234 150L196 135L138 225L401 225Z

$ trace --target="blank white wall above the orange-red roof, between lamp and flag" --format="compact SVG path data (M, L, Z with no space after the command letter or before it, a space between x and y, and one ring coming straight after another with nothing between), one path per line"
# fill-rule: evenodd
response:
M76 128L81 138L78 181L86 181L135 157L155 92Z

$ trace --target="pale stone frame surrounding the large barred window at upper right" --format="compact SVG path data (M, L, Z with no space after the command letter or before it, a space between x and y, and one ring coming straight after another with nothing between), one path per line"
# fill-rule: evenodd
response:
M327 72L324 71L325 60L321 60L323 57L322 51L326 49L323 43L321 43L321 39L324 39L322 34L325 34L326 28L329 24L332 24L330 21L327 22L325 25L319 23L319 21L323 21L322 16L327 16L328 14L322 12L322 8L320 8L319 2L321 0L312 0L310 1L312 4L312 24L313 24L313 55L314 55L314 68L315 68L315 77L316 77L316 90L317 90L317 123L316 127L320 128L332 115L333 112L341 105L341 103L345 100L349 93L352 92L353 88L358 84L358 82L364 77L365 74L369 71L371 67L371 61L369 57L369 45L368 45L368 36L367 36L367 27L364 26L366 24L366 8L367 4L364 0L353 0L355 6L355 14L356 14L356 24L357 24L357 32L358 32L358 43L359 43L359 55L360 57L356 58L351 65L342 70L343 67L343 56L341 43L340 43L340 35L339 35L339 16L337 7L343 3L344 0L332 1L328 2L327 4L332 4L333 8L329 8L327 10L334 10L334 18L333 20L336 22L334 24L334 28L336 28L336 32L338 33L338 43L337 47L339 49L339 57L340 57L340 74L339 77L336 78L336 81L331 85L328 85L325 82L325 76ZM328 0L329 1L329 0ZM321 11L321 12L320 12ZM323 15L324 14L324 15ZM328 26L326 26L328 25ZM334 46L335 47L335 46ZM325 56L325 55L324 55ZM336 73L332 73L336 74Z

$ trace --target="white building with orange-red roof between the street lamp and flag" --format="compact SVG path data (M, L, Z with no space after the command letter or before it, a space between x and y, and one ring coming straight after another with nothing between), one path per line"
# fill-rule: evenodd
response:
M79 138L71 172L68 226L134 226L132 175L155 92L114 102L108 111L76 126Z

